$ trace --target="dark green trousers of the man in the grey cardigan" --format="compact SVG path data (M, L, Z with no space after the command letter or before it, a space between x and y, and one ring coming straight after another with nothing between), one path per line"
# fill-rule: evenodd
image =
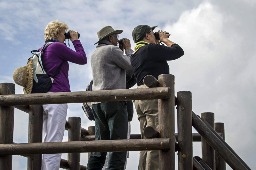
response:
M95 118L95 140L127 139L126 102L110 101L92 105ZM101 170L107 152L92 152L86 170ZM108 169L124 170L126 152L109 152Z

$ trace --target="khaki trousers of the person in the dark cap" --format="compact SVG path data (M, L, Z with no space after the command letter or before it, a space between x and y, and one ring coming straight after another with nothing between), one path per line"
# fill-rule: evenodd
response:
M148 88L140 85L138 88ZM147 139L143 135L143 129L152 126L158 130L158 100L135 100L135 109L140 121L141 139ZM139 170L158 170L159 151L140 151Z

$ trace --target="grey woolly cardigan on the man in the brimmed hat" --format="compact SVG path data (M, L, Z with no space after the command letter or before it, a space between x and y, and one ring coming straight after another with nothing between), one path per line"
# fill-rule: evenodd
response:
M119 47L109 41L100 42L108 45L100 44L92 52L92 90L126 89L125 70L134 74L130 60L133 50L125 50L125 56Z

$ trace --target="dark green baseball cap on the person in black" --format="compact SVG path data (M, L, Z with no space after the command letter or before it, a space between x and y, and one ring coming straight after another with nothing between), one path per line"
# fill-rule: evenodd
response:
M132 31L132 39L134 43L139 42L146 33L150 33L150 29L154 30L157 26L139 25L136 26Z

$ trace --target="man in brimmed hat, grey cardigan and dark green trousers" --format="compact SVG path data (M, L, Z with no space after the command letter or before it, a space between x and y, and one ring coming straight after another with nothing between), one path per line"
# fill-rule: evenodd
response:
M133 74L130 56L133 53L129 39L123 38L124 52L117 47L118 34L105 26L97 33L98 46L92 52L92 90L126 89L125 70ZM126 101L94 102L92 111L95 118L95 140L127 139L128 115ZM93 152L87 170L102 169L107 152ZM123 170L126 152L109 152L108 169Z

